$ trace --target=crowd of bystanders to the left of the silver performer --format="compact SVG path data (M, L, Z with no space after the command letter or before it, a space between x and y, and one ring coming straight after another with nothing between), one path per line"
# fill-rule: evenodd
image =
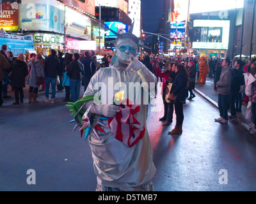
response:
M65 90L63 101L75 102L79 100L81 85L84 91L90 82L90 78L97 71L95 52L90 50L83 54L69 54L63 56L62 52L51 50L47 57L41 54L30 54L30 59L24 54L13 57L11 51L7 52L7 45L2 45L0 51L0 106L3 99L12 98L8 96L9 91L15 92L13 105L24 102L24 87L29 86L28 102L39 103L38 90L45 93L44 101L55 103L56 91ZM51 90L50 90L51 89Z

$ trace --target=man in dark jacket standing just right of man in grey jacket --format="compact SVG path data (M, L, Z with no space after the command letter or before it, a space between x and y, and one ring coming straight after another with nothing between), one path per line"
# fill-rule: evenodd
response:
M231 78L231 87L229 94L229 106L231 115L228 117L228 121L232 122L237 119L236 116L236 96L240 91L240 86L244 85L244 75L243 75L243 61L238 59L235 64L235 69L232 70L232 78Z

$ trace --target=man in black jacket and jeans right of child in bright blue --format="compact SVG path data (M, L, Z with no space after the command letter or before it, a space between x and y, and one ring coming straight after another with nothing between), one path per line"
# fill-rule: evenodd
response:
M77 52L73 55L73 61L70 62L67 72L67 76L70 78L70 94L72 102L78 101L80 96L83 64L78 61L79 57L80 55Z

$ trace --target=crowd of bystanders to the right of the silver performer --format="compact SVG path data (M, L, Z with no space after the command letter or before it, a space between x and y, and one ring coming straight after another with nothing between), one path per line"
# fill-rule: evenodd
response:
M147 59L146 57L145 59ZM145 59L140 60L144 64L148 64L148 59L146 62ZM152 70L156 77L163 80L164 116L159 119L163 121L163 126L169 126L172 123L174 106L178 124L176 126L180 125L182 127L184 115L181 109L182 105L179 103L186 103L186 98L188 100L195 98L193 92L195 83L205 84L207 77L214 77L213 89L218 92L218 108L220 111L220 117L214 120L221 124L227 124L228 121L233 122L237 119L236 113L241 112L242 105L244 105L247 106L246 119L253 121L250 124L250 133L256 134L256 82L248 83L249 77L256 78L256 62L253 59L241 60L234 58L231 61L228 58L207 59L207 57L202 56L186 57L185 59L164 58L155 61L151 58L150 64L150 66L146 65L148 69ZM175 78L179 76L176 70L180 69L180 64L184 66L186 71L179 70L183 79L179 77L179 80L175 82ZM180 82L179 85L177 85L177 81ZM179 91L177 91L177 87L179 87ZM172 98L173 94L175 95L174 98ZM251 108L248 102L250 102ZM230 115L228 115L228 109ZM178 130L176 129L177 131L169 133L182 133L181 127Z

